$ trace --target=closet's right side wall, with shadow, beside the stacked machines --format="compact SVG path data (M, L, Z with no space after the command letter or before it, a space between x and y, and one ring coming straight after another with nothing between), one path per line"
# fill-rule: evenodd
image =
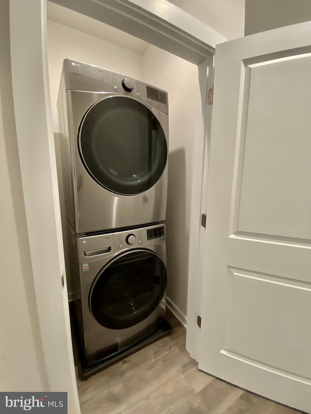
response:
M150 45L143 55L143 81L169 94L169 189L166 220L168 304L187 315L192 154L197 66Z

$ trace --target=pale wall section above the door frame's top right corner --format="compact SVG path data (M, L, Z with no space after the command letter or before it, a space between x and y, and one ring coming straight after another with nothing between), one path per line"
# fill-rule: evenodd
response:
M253 1L261 2L261 0ZM245 0L170 0L170 2L221 33L228 40L244 35Z

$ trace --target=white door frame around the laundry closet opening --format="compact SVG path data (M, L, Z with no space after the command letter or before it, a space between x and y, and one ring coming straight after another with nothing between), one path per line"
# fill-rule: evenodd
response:
M51 336L56 338L61 336L66 339L67 348L63 356L68 364L63 369L66 370L68 392L71 392L71 397L68 396L69 401L71 398L75 407L72 413L78 413L79 400L72 357L67 285L66 278L63 277L65 264L46 52L46 0L29 0L27 4L26 2L21 4L18 0L9 0L9 2L17 145L45 364L50 388L55 390L59 376L59 373L57 374L59 355L51 347ZM196 315L199 309L197 298L200 298L198 295L202 269L200 251L204 241L200 215L205 210L202 191L206 182L207 168L203 167L207 165L208 159L210 125L207 125L207 120L211 119L211 106L207 106L207 87L209 87L207 71L210 80L213 72L214 48L217 43L222 43L226 39L168 2L162 3L162 8L156 6L153 0L53 0L53 2L106 22L127 33L135 34L161 49L198 65L198 111L194 134L187 317L187 349L190 355L197 359ZM28 97L32 97L31 105ZM34 114L35 123L32 123L30 120L34 120ZM43 162L34 163L34 150ZM46 185L46 182L49 185ZM38 194L35 202L34 194ZM49 237L43 236L43 229ZM51 266L51 263L53 265L51 269L48 267L47 271L47 266ZM42 277L43 271L46 272L45 280ZM64 279L65 283L62 286ZM51 282L48 283L49 289L45 288L47 281ZM62 298L63 309L60 312L63 321L61 325L54 321L54 325L47 327L47 321L50 321L54 315L55 303L51 297L58 298L58 301Z

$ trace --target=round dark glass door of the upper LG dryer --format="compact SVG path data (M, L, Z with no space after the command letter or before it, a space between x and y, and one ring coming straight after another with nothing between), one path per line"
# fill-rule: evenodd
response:
M80 125L79 150L90 176L122 195L151 188L167 160L158 119L138 100L121 96L104 98L88 110Z

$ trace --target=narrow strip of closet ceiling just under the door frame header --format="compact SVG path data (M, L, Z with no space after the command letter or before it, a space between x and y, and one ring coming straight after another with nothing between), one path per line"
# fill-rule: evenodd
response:
M108 24L47 1L47 19L143 55L149 43Z

